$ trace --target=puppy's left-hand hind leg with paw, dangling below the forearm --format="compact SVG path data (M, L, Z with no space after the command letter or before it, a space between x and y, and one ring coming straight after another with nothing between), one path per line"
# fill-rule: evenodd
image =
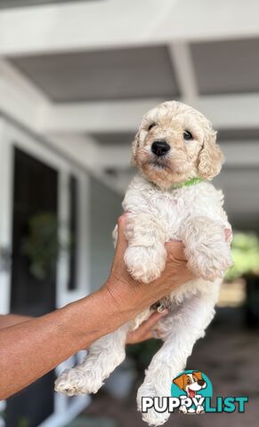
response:
M125 359L129 324L93 342L83 362L66 369L55 381L55 391L68 396L96 393L109 374Z

